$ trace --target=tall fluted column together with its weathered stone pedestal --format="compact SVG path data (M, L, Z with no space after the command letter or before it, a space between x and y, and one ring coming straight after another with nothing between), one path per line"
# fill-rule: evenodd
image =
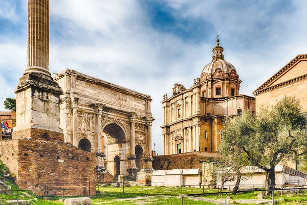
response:
M16 93L13 139L64 141L60 128L60 95L49 69L49 0L28 1L28 64Z

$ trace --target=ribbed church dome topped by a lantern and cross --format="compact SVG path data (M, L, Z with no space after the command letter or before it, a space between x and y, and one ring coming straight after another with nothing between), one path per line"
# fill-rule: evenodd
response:
M238 80L238 74L235 67L224 60L223 47L220 46L220 40L217 38L216 46L213 48L212 61L207 64L201 74L201 82L211 78L232 78Z

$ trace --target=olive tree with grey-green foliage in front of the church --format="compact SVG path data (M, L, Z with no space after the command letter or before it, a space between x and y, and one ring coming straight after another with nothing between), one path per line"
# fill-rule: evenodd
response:
M246 110L228 118L220 152L242 153L250 165L265 170L268 185L275 186L275 166L307 153L306 122L299 100L285 96L275 105L260 107L257 115Z

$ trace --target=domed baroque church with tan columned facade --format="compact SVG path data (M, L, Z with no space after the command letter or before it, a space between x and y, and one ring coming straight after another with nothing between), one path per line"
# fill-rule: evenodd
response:
M186 89L175 83L171 97L164 95L163 154L192 151L216 152L223 139L223 120L255 111L255 98L239 94L239 75L224 59L224 49L216 40L212 61Z

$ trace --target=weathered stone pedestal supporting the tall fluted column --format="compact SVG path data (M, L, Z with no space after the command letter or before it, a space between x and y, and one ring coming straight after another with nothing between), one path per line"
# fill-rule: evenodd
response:
M16 93L16 122L13 139L64 140L60 128L59 85L51 77L28 73L19 78Z

